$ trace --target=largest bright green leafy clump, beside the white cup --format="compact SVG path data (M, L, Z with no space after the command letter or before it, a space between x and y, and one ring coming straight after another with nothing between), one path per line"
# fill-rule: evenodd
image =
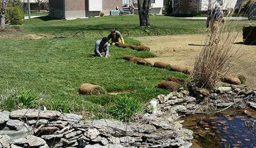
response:
M143 110L144 106L138 100L127 96L118 97L110 107L111 115L121 121L130 121L131 117Z

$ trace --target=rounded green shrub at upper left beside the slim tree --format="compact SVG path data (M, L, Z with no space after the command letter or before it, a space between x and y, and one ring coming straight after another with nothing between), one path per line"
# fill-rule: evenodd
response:
M15 7L12 12L11 25L22 25L24 23L24 13L20 7Z

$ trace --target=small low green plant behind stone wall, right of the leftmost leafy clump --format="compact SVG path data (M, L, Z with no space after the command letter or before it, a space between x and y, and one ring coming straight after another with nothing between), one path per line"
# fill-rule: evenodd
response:
M50 110L57 110L62 113L71 113L72 111L72 103L63 99L50 99L47 107L50 107Z

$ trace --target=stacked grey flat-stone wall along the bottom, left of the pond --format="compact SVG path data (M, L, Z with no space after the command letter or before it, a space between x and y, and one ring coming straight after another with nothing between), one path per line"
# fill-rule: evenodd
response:
M0 148L190 148L192 131L182 128L177 113L169 115L125 123L48 110L3 111Z

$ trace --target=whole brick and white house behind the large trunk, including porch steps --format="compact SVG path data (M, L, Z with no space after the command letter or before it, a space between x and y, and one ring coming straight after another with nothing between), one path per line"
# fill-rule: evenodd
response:
M162 15L164 0L151 0L152 14ZM124 9L125 14L138 14L137 0L49 0L51 17L75 19L110 15L111 10Z

